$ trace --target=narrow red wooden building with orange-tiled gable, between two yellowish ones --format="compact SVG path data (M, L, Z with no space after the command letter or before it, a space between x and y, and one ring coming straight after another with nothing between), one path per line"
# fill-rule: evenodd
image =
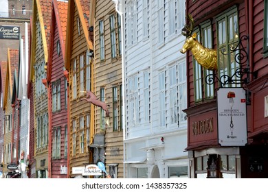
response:
M52 1L52 24L47 63L49 100L49 178L67 178L67 79L63 75L68 3Z

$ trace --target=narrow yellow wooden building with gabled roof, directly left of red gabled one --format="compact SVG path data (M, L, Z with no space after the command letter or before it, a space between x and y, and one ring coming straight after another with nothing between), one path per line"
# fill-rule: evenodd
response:
M33 2L30 81L34 104L34 159L36 178L48 177L48 100L47 77L48 47L52 1Z

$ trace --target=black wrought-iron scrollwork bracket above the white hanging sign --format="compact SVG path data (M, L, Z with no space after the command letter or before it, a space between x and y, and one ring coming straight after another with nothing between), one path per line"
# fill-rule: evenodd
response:
M240 67L238 69L236 69L234 74L221 75L221 77L218 77L215 73L207 75L205 77L205 82L207 84L214 84L215 78L216 78L216 80L219 81L221 86L225 86L227 84L247 84L249 82L248 75L249 75L249 73L252 73L252 72L250 72L248 65L245 68L242 67L242 65L245 64L245 62L247 62L247 60L248 60L247 50L243 46L242 40L248 40L248 39L249 39L248 36L242 36L240 38L240 40L238 41L238 44L236 45L236 47L230 47L229 52L225 53L226 52L225 49L221 50L221 53L223 55L235 53L234 59L235 59L236 63L238 63L240 65ZM246 74L246 77L244 77L245 74Z

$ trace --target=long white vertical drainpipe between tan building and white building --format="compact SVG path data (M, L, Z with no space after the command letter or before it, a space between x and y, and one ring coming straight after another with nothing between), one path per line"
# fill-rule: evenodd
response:
M115 3L115 11L118 12L118 14L120 14L120 17L121 17L121 42L122 42L122 49L121 49L121 58L122 58L122 93L123 93L123 96L122 96L122 129L123 129L123 159L124 161L126 160L126 146L124 144L124 140L125 140L125 137L126 137L126 128L125 128L125 120L126 120L126 117L125 117L125 95L126 95L126 92L125 92L125 80L124 80L124 19L123 19L123 16L124 16L124 2L120 2L120 0L112 0L113 3ZM124 178L126 178L126 165L125 163L123 162L123 170L124 170Z

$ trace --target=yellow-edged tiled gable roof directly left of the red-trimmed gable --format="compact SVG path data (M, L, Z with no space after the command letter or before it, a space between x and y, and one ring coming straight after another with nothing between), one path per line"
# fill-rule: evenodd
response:
M52 13L52 0L34 0L32 6L32 54L31 54L31 69L30 69L30 79L34 75L33 65L35 58L35 39L36 39L36 21L37 17L40 22L41 36L43 51L45 56L45 62L47 62L48 57L48 47L49 47L49 38L50 38L50 25L51 25L51 13Z

